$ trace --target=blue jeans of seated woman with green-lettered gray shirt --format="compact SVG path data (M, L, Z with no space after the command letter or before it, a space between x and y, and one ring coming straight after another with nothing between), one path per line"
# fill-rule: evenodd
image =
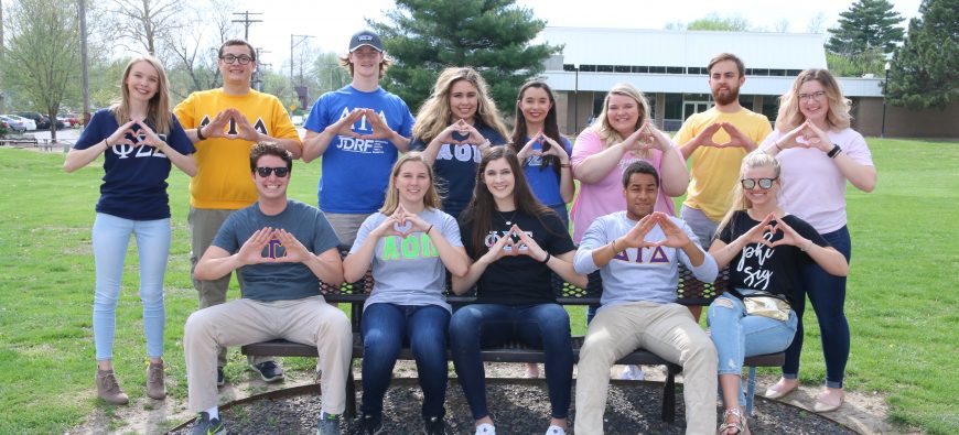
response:
M363 405L365 415L382 415L382 398L403 342L417 360L423 390L423 417L445 415L446 330L450 312L437 305L373 304L363 311Z

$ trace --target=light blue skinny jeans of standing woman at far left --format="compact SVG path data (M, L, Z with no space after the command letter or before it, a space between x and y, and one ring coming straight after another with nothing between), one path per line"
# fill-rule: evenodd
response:
M140 300L143 301L143 334L147 356L163 356L163 274L170 253L170 218L130 220L98 213L94 220L93 244L96 262L94 294L94 342L97 360L112 359L117 301L123 278L123 260L130 235L137 238L140 260Z

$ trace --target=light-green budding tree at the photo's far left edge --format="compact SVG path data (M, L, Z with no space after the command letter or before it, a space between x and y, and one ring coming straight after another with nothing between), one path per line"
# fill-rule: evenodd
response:
M22 89L33 108L55 120L80 70L76 7L58 0L20 0L7 15L3 87ZM50 131L55 140L56 122Z

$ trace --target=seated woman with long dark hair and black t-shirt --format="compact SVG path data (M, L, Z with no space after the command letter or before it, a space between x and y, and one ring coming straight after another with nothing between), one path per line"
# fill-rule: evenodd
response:
M506 146L494 148L480 162L460 226L474 263L466 276L453 276L453 291L462 294L476 284L477 303L453 314L450 347L476 433L495 431L480 349L516 339L542 347L552 407L548 433L564 434L573 354L570 318L556 303L551 275L586 285L586 278L573 271L575 247L565 226L532 196L516 153Z

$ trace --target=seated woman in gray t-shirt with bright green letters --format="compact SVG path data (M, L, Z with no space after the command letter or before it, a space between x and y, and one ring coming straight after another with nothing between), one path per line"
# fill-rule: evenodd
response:
M450 304L443 297L446 270L466 274L470 258L460 227L440 211L433 172L419 152L399 157L386 203L356 233L343 261L354 282L371 270L373 293L363 307L363 415L357 434L382 429L382 398L402 344L409 342L423 390L423 433L445 434L446 331Z

